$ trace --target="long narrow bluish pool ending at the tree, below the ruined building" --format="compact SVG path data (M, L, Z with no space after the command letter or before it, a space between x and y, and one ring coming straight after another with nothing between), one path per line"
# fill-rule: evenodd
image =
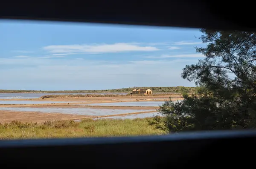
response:
M116 103L92 103L87 104L91 106L159 106L162 105L164 101L138 101L138 102L116 102ZM85 105L85 104L79 104Z

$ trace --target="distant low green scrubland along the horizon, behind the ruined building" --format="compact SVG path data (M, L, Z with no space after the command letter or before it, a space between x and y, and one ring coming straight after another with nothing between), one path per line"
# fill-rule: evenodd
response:
M44 91L44 90L0 90L0 93L108 93L108 92L125 92L129 93L133 89L151 89L153 92L172 92L172 93L181 93L181 92L194 92L196 87L183 87L183 86L175 86L175 87L130 87L130 88L122 88L122 89L108 89L108 90L52 90L52 91Z

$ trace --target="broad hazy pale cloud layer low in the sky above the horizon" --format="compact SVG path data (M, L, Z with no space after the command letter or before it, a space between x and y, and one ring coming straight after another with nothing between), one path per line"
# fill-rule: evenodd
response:
M75 90L129 86L193 86L193 83L183 80L180 73L186 64L196 62L195 59L180 58L122 63L75 58L0 58L0 78L3 80L0 88Z

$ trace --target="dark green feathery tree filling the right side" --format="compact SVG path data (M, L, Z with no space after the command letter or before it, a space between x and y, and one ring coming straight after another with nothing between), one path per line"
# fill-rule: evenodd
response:
M166 101L159 112L169 131L246 129L256 126L256 33L201 29L207 47L182 77L199 86L183 102ZM157 123L157 120L155 120ZM163 121L162 121L163 123Z

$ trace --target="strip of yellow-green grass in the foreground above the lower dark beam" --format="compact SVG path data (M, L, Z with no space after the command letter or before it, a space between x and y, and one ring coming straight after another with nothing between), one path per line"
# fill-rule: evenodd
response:
M125 120L86 119L47 121L43 124L12 123L0 124L0 139L61 138L61 137L111 137L136 135L163 135L160 129L148 124L150 118Z

